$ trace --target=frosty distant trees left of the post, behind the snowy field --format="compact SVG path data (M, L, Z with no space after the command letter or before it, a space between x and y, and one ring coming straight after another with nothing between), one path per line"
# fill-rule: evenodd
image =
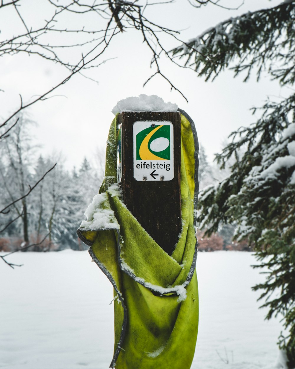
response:
M0 213L0 251L26 250L31 244L31 251L84 249L76 229L98 192L103 173L99 166L91 168L86 157L79 169L68 172L59 158L39 155L29 134L32 124L20 115L0 145L0 209L8 206ZM17 199L21 200L14 202Z

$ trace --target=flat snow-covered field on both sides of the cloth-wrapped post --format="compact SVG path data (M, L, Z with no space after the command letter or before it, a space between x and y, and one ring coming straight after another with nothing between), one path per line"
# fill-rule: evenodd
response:
M0 368L107 369L112 287L88 252L9 258L24 266L0 265ZM191 369L278 368L281 323L264 321L266 311L258 309L259 294L250 287L263 275L254 263L247 252L198 254L199 334Z

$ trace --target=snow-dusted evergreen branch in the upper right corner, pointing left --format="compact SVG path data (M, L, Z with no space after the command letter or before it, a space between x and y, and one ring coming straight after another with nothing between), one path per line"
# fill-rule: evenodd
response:
M171 51L173 57L185 59L184 65L195 69L206 80L213 79L239 59L233 68L236 75L243 70L250 75L254 65L257 77L268 70L282 84L295 79L294 48L295 2L284 2L273 8L229 18L209 28L196 38ZM276 65L274 65L274 62Z

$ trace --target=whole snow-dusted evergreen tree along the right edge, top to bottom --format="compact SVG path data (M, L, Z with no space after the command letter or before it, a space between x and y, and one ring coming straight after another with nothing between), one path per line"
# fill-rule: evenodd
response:
M174 49L206 80L226 69L235 75L251 72L259 80L269 73L281 86L295 80L295 1L230 18ZM249 128L232 133L216 160L224 168L231 157L230 175L199 197L198 221L207 234L221 223L235 223L237 240L248 239L256 248L257 268L267 268L266 280L254 290L268 307L267 319L282 314L279 345L295 366L295 94L267 101L261 117ZM242 154L239 151L242 149Z

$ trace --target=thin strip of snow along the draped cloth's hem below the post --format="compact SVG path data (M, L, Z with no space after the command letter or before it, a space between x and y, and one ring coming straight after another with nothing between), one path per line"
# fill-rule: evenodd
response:
M177 302L184 301L187 298L187 290L185 287L188 285L188 281L186 280L183 284L177 285L177 286L169 286L169 287L161 287L156 286L155 284L146 282L143 278L136 277L135 272L130 266L125 262L125 260L121 257L121 269L127 273L131 273L133 276L133 279L135 282L138 282L145 286L146 288L153 290L155 292L160 293L161 295L164 295L166 293L176 293L178 295Z

